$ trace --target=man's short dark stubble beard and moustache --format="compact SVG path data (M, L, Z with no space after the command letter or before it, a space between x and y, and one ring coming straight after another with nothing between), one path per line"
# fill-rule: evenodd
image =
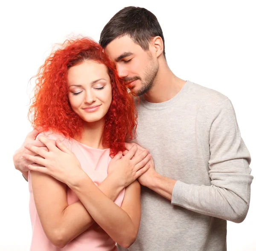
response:
M136 96L143 95L144 93L149 91L151 89L151 87L153 86L153 84L154 84L154 79L157 75L159 66L157 64L153 63L153 60L152 60L153 58L152 58L151 55L149 55L149 59L150 59L151 63L142 72L143 76L145 76L144 81L142 81L141 77L139 77L139 76L125 77L124 78L125 82L130 82L130 81L133 81L133 80L140 80L141 81L141 87L138 91L135 92L132 89L130 90L131 93L134 93Z

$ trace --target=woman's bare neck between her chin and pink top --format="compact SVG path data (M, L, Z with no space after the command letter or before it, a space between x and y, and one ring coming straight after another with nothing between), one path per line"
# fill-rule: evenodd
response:
M103 146L103 128L105 125L105 119L96 122L84 122L84 128L81 133L81 138L75 138L80 143L88 145L93 148L104 149Z

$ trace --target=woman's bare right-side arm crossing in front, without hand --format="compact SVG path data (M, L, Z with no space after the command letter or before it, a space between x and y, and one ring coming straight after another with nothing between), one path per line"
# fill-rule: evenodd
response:
M81 173L80 177L80 182L70 188L99 226L115 242L128 248L136 240L140 225L139 183L134 181L126 188L120 208L96 187L87 174Z

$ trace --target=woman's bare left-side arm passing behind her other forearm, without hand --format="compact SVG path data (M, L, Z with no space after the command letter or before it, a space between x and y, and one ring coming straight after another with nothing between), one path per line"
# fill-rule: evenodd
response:
M31 171L35 206L47 238L63 248L68 242L86 231L95 222L81 201L68 205L67 185L53 177ZM98 187L110 200L116 200L123 187L113 176Z

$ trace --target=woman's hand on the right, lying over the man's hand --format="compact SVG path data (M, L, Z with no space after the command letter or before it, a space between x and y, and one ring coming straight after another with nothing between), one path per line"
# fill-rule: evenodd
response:
M108 175L114 176L124 188L134 182L138 177L145 173L150 167L149 161L151 154L144 149L140 154L137 152L137 145L132 146L125 156L122 152L117 153L108 165Z

